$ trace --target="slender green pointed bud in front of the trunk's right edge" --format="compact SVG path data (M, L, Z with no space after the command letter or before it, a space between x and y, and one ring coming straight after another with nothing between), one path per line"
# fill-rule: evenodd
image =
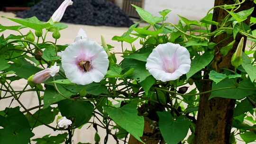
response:
M243 54L243 46L244 46L244 37L241 38L236 52L233 54L231 58L231 64L238 68L239 65L243 63L242 54Z

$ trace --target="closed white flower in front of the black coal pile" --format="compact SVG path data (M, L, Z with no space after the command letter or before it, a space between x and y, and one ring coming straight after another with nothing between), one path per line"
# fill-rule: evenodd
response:
M63 15L64 15L65 10L67 9L68 6L70 6L72 4L73 4L72 0L64 0L52 16L53 22L60 22L60 20L62 19Z

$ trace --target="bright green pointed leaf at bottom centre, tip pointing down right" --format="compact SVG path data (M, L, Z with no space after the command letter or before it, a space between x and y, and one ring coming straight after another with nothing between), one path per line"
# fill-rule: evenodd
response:
M144 118L137 115L137 105L128 104L121 108L105 107L105 110L117 125L141 141Z

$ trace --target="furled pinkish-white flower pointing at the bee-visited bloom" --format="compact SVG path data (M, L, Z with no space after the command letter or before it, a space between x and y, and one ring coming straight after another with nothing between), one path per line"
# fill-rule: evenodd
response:
M58 73L59 70L60 66L57 66L57 63L55 63L52 67L44 69L32 75L30 78L28 78L28 81L32 81L37 84L43 83L50 77L55 76L55 74Z

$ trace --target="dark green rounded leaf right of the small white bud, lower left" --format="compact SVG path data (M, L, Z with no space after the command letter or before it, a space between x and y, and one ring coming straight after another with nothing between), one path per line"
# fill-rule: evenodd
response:
M64 99L58 102L61 115L73 120L72 126L82 126L87 123L93 112L93 105L89 101Z

